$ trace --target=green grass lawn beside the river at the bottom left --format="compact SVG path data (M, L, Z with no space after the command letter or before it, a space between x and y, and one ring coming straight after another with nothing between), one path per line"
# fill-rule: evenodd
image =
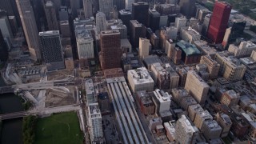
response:
M74 112L54 114L38 118L36 124L36 144L82 144L83 136L78 116Z

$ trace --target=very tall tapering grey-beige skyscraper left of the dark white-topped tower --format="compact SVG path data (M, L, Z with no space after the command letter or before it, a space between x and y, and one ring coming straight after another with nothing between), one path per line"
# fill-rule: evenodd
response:
M30 56L34 60L41 60L38 29L34 18L34 10L30 0L16 0L18 13L22 20L22 27L29 47Z

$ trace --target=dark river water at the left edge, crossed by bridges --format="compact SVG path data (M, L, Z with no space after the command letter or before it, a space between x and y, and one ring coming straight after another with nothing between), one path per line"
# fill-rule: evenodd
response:
M0 77L0 86L5 86ZM22 111L22 102L15 94L0 94L0 113L7 114ZM22 118L2 122L1 144L22 144Z

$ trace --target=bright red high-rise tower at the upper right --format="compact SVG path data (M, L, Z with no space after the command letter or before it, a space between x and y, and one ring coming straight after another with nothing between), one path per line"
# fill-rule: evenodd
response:
M215 2L207 37L215 43L222 43L232 6L226 2Z

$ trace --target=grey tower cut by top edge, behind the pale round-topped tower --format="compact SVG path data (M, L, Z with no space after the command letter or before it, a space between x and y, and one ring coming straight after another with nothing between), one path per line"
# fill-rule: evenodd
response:
M113 9L113 0L99 0L99 11L106 15L106 19L110 19L110 12Z

